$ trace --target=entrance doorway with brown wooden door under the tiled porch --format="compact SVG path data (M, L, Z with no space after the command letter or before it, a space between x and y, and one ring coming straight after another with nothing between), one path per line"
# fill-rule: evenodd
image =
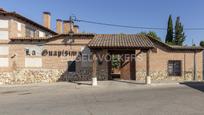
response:
M111 61L108 64L109 79L135 80L135 51L109 50Z

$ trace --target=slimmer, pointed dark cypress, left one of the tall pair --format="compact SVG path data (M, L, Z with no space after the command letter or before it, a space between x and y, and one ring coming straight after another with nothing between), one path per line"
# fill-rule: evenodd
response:
M172 44L173 43L173 37L174 37L173 36L173 21L172 21L171 15L169 15L165 43Z

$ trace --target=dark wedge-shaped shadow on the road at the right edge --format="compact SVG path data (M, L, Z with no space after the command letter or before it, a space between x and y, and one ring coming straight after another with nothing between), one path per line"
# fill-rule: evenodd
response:
M186 85L188 87L197 89L201 92L204 92L204 82L183 82L180 84L183 84L183 85Z

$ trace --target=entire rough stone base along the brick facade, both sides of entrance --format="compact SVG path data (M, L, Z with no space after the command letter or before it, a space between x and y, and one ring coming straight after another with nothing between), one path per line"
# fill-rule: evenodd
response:
M101 73L98 80L107 79L107 71L99 69ZM103 75L102 75L103 74ZM184 72L183 76L168 76L167 72L150 72L152 80L173 80L173 81L191 81L194 80L193 72ZM202 72L197 72L198 80L202 80ZM77 72L66 72L57 69L21 69L13 72L0 73L0 84L30 84L40 82L57 82L57 81L88 81L92 77L92 68L82 68ZM144 81L146 71L137 71L136 80Z

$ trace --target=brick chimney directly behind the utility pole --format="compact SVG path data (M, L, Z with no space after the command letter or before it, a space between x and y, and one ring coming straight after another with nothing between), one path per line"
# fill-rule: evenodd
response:
M74 22L70 20L63 21L64 34L72 33L74 31Z

